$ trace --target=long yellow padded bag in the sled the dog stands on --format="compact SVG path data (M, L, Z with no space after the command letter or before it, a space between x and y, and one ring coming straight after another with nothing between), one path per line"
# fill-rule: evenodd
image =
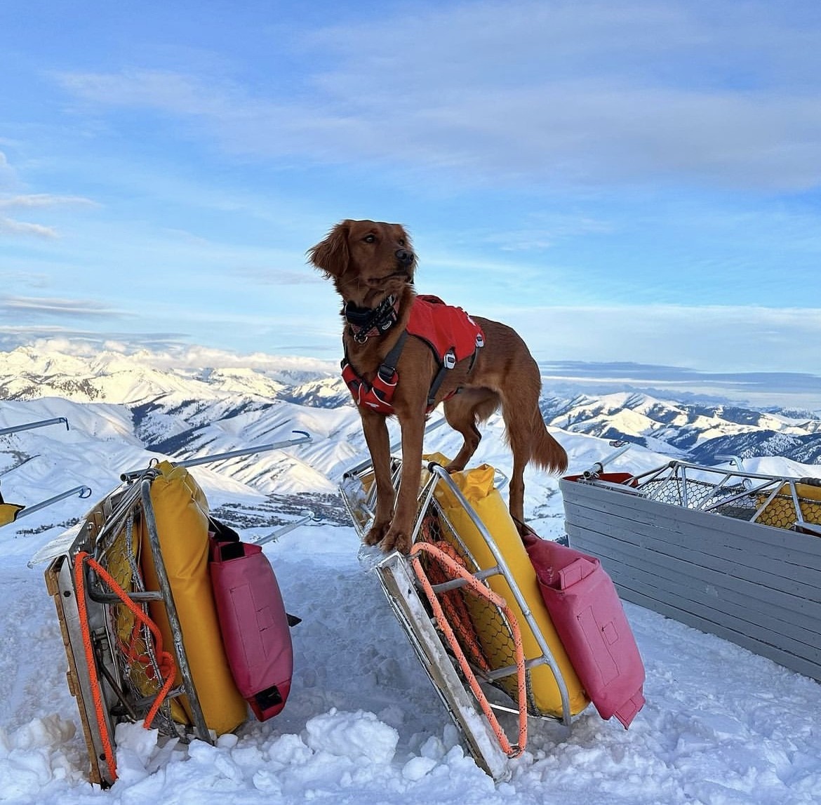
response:
M530 558L522 544L519 532L516 530L516 523L507 510L507 506L502 500L502 495L493 485L493 467L483 464L464 472L454 472L452 480L465 495L470 505L479 515L479 519L493 536L502 557L510 568L511 575L519 586L525 603L533 614L536 625L544 635L548 648L553 653L553 658L564 678L568 697L570 698L571 715L576 715L585 709L589 704L589 698L585 694L576 671L568 659L564 646L559 640L553 622L550 619L547 608L544 606L539 583L536 580L536 572ZM484 537L470 519L465 508L456 499L445 484L438 484L435 496L443 513L465 543L470 553L473 554L480 568L492 568L496 564ZM510 585L502 575L494 575L488 579L488 584L494 592L502 596L511 607L516 620L521 629L522 645L525 649L525 658L531 658L541 654L539 644L536 642L534 633L528 626L521 607L513 597ZM496 668L507 665L507 661L494 661L497 658L509 657L511 655L511 638L506 632L490 630L488 623L482 623L481 619L476 619L474 624L479 636L479 642L488 656L490 664ZM556 679L549 665L536 665L528 672L530 678L530 699L536 710L542 715L562 716L562 695L559 692ZM513 683L515 686L515 683Z

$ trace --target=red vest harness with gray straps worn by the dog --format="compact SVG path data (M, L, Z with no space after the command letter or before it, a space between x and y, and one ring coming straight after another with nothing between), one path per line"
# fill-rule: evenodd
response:
M482 328L461 307L446 305L439 297L414 297L406 329L379 366L373 384L356 374L346 352L342 361L342 379L351 390L356 405L365 405L383 414L393 413L393 393L399 380L396 366L409 335L420 338L430 347L439 366L430 384L427 412L433 411L436 392L447 370L459 361L475 357L479 347L484 346Z

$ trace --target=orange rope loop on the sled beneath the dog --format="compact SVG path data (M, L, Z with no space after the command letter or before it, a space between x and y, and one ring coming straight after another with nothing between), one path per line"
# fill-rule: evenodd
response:
M470 668L470 663L465 656L465 652L462 651L461 646L459 645L459 640L456 637L456 634L453 632L450 623L447 622L442 605L440 605L436 593L433 591L433 586L431 585L429 578L424 573L424 568L422 567L422 562L420 559L420 553L422 552L430 554L434 559L437 559L438 563L440 563L443 568L447 568L447 570L450 571L452 578L458 577L464 579L471 591L487 600L490 604L498 606L498 608L502 609L507 616L508 623L510 623L511 632L513 633L513 644L516 651L516 680L517 692L519 694L519 739L515 746L511 746L507 735L502 729L502 726L499 724L496 715L493 713L493 709L490 706L490 702L488 702L488 698L484 695L484 691L479 686L479 681L476 679L473 669ZM470 575L470 573L468 573L460 563L456 562L455 559L452 559L443 550L440 550L435 545L431 545L428 542L415 543L415 545L413 545L410 549L410 563L414 569L416 577L422 585L425 595L428 596L431 609L433 609L433 617L436 619L438 627L441 629L447 639L448 644L451 646L453 654L456 656L456 661L459 663L459 667L461 668L462 674L465 675L467 683L470 686L470 690L476 697L476 701L478 701L479 707L487 718L491 729L493 729L493 734L496 736L499 746L502 747L502 752L505 752L508 757L518 757L525 751L525 745L527 744L527 704L525 689L525 650L521 644L521 632L519 631L519 624L516 622L516 616L512 613L510 607L507 606L507 601L504 600L502 596L498 595L498 593L493 590L490 590L482 582L479 582L479 580Z

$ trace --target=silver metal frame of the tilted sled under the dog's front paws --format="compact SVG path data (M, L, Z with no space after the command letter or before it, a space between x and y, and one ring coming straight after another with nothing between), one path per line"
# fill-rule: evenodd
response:
M461 494L461 490L458 489L443 467L436 463L430 463L426 465L426 469L429 472L429 480L420 490L418 499L413 530L414 550L411 551L410 556L404 556L396 552L388 554L385 559L376 564L375 570L393 613L406 632L410 645L427 671L433 687L436 688L448 713L465 739L470 753L477 764L494 780L506 780L510 776L507 764L508 758L516 757L524 749L527 716L556 718L556 716L535 711L532 706L529 706L529 701L532 700L526 695L528 691L522 691L522 688L527 687L527 683L525 682L524 685L521 683L521 678L525 672L536 665L546 664L549 666L556 680L562 701L562 716L558 720L561 720L566 727L571 724L570 697L553 652L550 651L543 632L535 622L530 607L488 528L479 519L474 508ZM392 478L395 489L398 488L400 477L401 461L398 458L392 458ZM465 509L471 522L478 529L479 534L493 555L495 562L493 567L480 568L478 566L475 558L466 549L455 529L447 521L447 517L439 509L433 498L433 492L438 484L447 485L452 495ZM363 462L353 467L351 471L346 472L340 489L342 499L346 504L348 513L351 515L356 531L360 537L364 536L373 521L376 494L373 467L370 462ZM419 572L420 559L419 552L416 549L420 547L420 540L424 540L424 536L420 533L423 531L423 522L426 517L431 515L436 517L440 527L449 531L449 539L458 545L456 553L460 554L461 560L466 564L466 573L463 575L470 576L470 580L465 577L452 577L447 582L431 584L430 586L436 596L440 596L447 591L464 588L469 583L473 585L478 583L489 591L488 578L494 575L503 576L510 586L516 604L519 605L528 626L533 632L539 646L538 655L521 658L520 661L514 661L507 667L488 669L487 667L477 667L473 658L470 657L470 651L461 651L459 647L454 650L452 642L448 640L447 632L451 631L448 628L449 625L455 626L456 624L442 623L441 617L437 617L434 609L436 604L430 600L429 595L424 591L424 587L428 586L428 580L424 578L424 573L420 574ZM494 594L491 593L491 595ZM501 599L501 596L497 597ZM498 623L501 623L507 629L512 642L514 635L518 632L518 624L515 623L515 616L504 605L505 601L503 599L498 604L488 601L488 608L496 609L493 617L498 619ZM465 669L466 659L470 663L470 670L467 673ZM501 689L513 702L512 706L486 702L494 710L516 713L520 717L519 743L512 746L507 744L507 751L503 748L503 741L500 740L498 728L492 723L493 716L488 718L488 715L485 715L483 711L484 705L481 696L477 697L475 687L471 684L471 675L475 675L483 683L489 683L493 688ZM519 676L518 683L516 682L517 675ZM524 696L520 695L519 701L515 701L516 697L511 693L511 688L515 689L516 687L519 688L520 694L522 692L525 694ZM524 732L521 728L522 723L525 724Z

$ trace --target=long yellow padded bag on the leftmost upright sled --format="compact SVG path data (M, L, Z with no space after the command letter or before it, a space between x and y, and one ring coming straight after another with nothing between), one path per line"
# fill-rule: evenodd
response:
M185 467L162 462L157 469L161 474L151 484L151 504L194 687L209 729L217 734L231 732L245 721L248 709L222 647L208 568L208 501ZM144 523L141 528L145 583L148 589L156 590L157 572ZM173 651L165 607L152 602L150 608L164 647ZM183 700L182 705L190 720L188 701Z

